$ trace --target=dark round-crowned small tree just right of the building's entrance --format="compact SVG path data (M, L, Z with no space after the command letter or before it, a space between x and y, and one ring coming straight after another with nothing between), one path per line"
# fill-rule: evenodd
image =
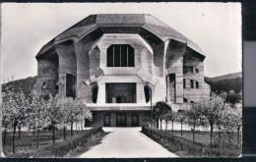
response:
M171 110L171 107L163 101L157 102L154 106L153 115L154 119L159 121L160 120L160 131L161 131L161 123L163 120L163 115L168 113Z

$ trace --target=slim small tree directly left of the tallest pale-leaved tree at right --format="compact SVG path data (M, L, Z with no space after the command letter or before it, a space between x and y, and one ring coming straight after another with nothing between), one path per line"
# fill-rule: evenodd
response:
M189 124L192 125L193 127L193 129L191 130L193 133L193 141L195 141L196 126L199 126L200 118L202 116L200 102L191 103L190 108L186 110L186 115L187 115Z

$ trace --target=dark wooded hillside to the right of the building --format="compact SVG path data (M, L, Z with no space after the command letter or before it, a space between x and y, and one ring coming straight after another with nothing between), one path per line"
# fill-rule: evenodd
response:
M242 73L228 74L215 78L205 77L205 81L211 86L211 90L221 93L233 90L235 93L242 91Z

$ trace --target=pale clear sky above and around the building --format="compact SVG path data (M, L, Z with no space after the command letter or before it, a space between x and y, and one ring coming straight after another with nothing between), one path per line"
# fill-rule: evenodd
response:
M240 3L3 3L1 81L36 76L40 48L91 14L151 14L200 46L206 77L241 72Z

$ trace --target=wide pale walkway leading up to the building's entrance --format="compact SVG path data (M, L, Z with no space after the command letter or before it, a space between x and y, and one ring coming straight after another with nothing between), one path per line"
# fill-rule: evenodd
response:
M158 142L143 135L140 128L103 128L110 132L100 144L85 152L80 158L147 158L177 157Z

